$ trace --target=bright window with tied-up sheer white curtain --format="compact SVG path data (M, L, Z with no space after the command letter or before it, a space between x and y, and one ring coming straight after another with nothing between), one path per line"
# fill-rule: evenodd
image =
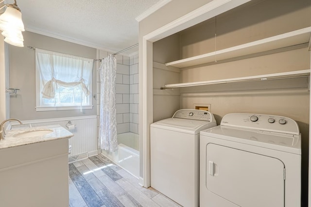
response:
M35 49L36 111L92 109L93 59Z

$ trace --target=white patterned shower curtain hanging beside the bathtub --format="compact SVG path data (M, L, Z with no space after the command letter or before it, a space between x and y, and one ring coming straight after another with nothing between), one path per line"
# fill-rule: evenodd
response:
M100 127L101 149L111 152L118 149L116 120L116 58L109 55L99 68L101 80Z

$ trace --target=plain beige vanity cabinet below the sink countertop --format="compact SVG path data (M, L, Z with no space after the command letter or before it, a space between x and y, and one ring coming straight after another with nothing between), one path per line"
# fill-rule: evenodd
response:
M71 136L0 148L0 206L68 207Z

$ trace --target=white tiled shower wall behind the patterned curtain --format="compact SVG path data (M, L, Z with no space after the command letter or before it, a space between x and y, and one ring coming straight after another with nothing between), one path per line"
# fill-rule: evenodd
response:
M111 53L100 50L98 59ZM116 55L116 108L117 133L133 132L138 134L138 53L130 57ZM101 63L98 63L98 67ZM100 77L97 72L97 131L99 132L100 115ZM99 140L98 140L99 141ZM100 148L100 144L98 144Z

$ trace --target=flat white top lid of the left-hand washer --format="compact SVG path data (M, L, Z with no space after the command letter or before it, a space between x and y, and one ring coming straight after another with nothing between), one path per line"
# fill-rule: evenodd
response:
M215 127L215 122L191 120L183 118L168 118L155 122L150 127L163 128L172 131L178 131L189 134L198 134L201 130Z

